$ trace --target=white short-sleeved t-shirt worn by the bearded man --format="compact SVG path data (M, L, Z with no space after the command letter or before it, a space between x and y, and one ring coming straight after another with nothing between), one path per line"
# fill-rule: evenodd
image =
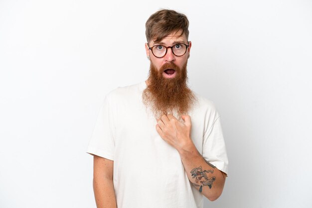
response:
M142 82L106 95L87 152L114 160L118 208L202 208L203 195L189 182L177 150L157 133L156 118L146 111L146 87ZM220 116L212 102L195 95L191 138L199 153L227 174Z

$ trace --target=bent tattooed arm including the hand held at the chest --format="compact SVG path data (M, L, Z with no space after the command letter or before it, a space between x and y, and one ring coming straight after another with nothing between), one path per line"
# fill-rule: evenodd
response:
M197 151L191 139L191 120L182 115L183 122L173 115L162 115L157 119L156 130L163 140L179 153L189 181L207 199L214 201L223 191L226 174L215 168Z

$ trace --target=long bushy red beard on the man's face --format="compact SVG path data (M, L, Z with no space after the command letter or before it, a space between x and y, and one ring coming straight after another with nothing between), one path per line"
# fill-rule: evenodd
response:
M196 97L187 87L186 65L180 69L173 63L164 64L158 71L151 62L149 86L143 91L143 103L159 118L162 114L173 114L179 120L191 110ZM166 69L174 69L174 78L164 78Z

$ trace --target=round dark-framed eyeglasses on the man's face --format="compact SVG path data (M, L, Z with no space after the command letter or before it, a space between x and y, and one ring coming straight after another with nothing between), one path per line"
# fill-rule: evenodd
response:
M176 43L173 46L167 46L167 47L164 45L155 45L153 47L149 46L149 49L152 50L152 53L155 57L162 58L166 55L168 48L171 48L173 55L183 56L186 53L187 47L189 47L189 45L186 45L184 43Z

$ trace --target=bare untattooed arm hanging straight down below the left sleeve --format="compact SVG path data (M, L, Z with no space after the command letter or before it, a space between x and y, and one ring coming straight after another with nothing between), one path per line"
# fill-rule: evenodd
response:
M93 155L93 191L97 208L117 208L113 185L114 161Z

